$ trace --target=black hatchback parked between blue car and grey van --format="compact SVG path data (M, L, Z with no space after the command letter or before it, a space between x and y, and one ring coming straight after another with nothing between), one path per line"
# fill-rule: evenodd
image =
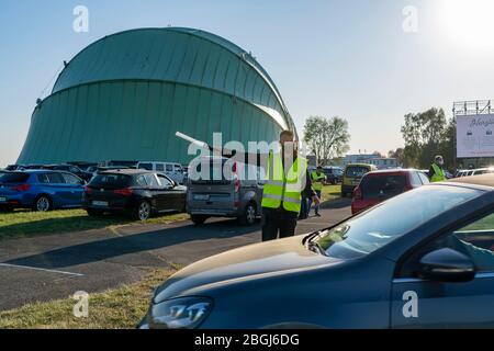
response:
M98 173L86 186L83 207L90 216L124 213L146 220L153 214L184 212L187 188L166 174L119 169Z

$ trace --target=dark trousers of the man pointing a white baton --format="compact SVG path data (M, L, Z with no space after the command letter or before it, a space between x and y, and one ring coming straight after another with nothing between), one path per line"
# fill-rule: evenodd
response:
M262 241L293 237L299 214L284 208L262 208Z

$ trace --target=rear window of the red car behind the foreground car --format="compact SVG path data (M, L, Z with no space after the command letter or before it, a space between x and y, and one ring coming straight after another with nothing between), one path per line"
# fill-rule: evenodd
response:
M360 183L363 199L394 196L404 192L405 186L405 174L368 174Z

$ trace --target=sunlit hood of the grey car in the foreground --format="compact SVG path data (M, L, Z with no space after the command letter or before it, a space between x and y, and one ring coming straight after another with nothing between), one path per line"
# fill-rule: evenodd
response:
M155 303L187 294L201 285L238 278L336 263L339 260L307 250L302 236L247 246L193 263L157 288Z

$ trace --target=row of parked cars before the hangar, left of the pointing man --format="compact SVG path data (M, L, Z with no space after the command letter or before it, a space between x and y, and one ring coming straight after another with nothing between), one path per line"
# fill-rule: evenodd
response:
M211 172L227 159L211 159ZM178 170L178 165L172 165ZM263 178L260 168L234 163L233 177L203 177L181 185L162 170L167 163L139 162L139 168L98 168L89 181L70 169L30 166L0 172L0 211L83 207L90 216L124 213L145 220L153 214L188 212L200 225L209 217L236 217L252 225L261 214ZM255 177L237 177L245 168ZM88 172L88 170L86 170ZM182 179L183 181L184 179Z

